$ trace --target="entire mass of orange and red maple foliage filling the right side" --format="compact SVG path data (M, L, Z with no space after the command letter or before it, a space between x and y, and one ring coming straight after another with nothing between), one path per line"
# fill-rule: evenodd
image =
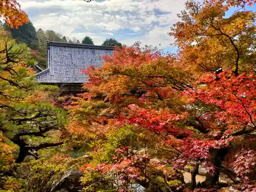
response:
M84 134L92 134L94 161L81 168L86 191L136 191L137 185L148 191L253 190L255 14L224 17L230 6L252 3L188 1L169 33L177 55L116 48L102 67L83 71L87 93L69 108L81 123L68 129L83 134L86 127ZM187 166L193 167L189 183ZM207 174L198 183L200 167ZM223 175L229 182L221 182ZM100 181L105 185L95 188Z

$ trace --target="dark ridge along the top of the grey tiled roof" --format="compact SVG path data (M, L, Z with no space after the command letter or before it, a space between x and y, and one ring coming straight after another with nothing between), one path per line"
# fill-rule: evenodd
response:
M84 49L103 49L103 50L114 50L114 46L96 46L88 44L74 44L70 42L57 42L57 41L46 41L47 46L58 46L58 47L72 47L72 48L84 48Z

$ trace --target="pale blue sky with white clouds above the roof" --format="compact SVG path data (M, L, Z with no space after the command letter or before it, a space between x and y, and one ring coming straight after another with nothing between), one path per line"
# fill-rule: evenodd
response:
M54 30L80 41L86 35L95 45L115 38L125 45L141 41L165 52L176 52L169 46L174 38L167 35L179 18L185 0L18 0L36 30ZM231 15L235 9L227 12ZM246 7L256 10L256 6ZM159 46L159 44L161 46Z

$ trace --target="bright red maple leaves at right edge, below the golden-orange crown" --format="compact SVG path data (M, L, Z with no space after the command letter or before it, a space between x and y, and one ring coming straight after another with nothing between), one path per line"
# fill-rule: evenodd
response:
M225 71L218 75L218 80L215 75L207 75L201 82L207 87L190 90L189 94L218 106L215 116L227 124L226 133L241 130L241 127L255 129L256 79L253 73L234 76L231 71Z

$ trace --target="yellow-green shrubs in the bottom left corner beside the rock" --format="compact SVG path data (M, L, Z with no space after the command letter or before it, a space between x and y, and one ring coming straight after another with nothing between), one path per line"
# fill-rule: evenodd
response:
M67 170L76 170L87 162L86 158L72 159L61 155L49 159L31 160L20 164L16 168L15 177L0 177L0 184L2 184L0 185L0 191L50 191L55 182ZM2 186L3 189L1 190Z

